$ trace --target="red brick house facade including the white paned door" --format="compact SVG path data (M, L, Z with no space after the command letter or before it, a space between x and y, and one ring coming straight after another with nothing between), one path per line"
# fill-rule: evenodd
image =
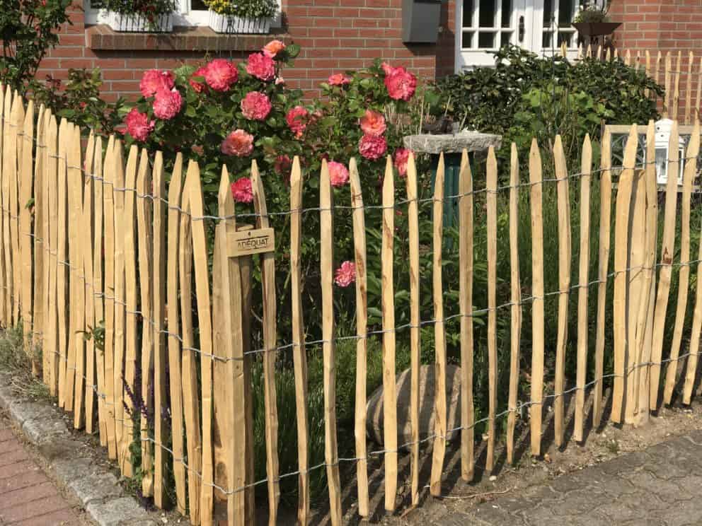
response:
M197 63L206 54L246 57L272 37L301 45L299 58L284 77L310 97L318 95L316 87L331 73L357 69L376 57L403 64L423 78L436 78L490 64L486 50L505 42L547 54L565 39L575 54L575 35L567 21L579 4L577 0L448 0L442 4L437 43L405 44L402 0L282 0L281 28L273 28L270 35L238 36L217 35L205 26L179 27L169 35L115 33L106 25L89 23L94 17L90 0L85 1L87 5L74 6L73 24L62 30L59 46L42 62L40 74L66 78L69 68L98 66L103 70L105 97L112 99L134 96L146 69ZM623 23L615 34L620 49L634 54L682 49L684 54L693 51L699 56L702 52L700 0L612 0L610 16ZM686 60L685 56L685 69Z

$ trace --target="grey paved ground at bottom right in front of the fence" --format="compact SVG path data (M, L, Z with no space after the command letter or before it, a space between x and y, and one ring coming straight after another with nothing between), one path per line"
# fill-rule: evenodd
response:
M702 430L438 515L422 525L702 525Z

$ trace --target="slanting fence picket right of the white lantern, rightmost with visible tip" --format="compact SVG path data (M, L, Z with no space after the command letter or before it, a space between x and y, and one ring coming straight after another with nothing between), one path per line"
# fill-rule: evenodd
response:
M682 342L682 332L685 325L687 312L687 296L690 284L690 206L692 197L692 183L697 173L697 156L700 151L699 122L695 122L690 142L687 146L687 155L684 159L684 173L682 182L681 214L680 214L680 271L678 276L678 301L675 310L675 325L673 326L673 341L670 346L670 362L665 375L665 390L663 402L670 404L675 387L678 369L678 357ZM668 172L668 177L677 180L678 172Z

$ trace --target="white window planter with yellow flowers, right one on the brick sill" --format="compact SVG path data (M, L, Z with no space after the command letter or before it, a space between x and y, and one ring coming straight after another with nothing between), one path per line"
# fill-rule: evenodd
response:
M209 0L209 27L215 33L268 33L276 0Z

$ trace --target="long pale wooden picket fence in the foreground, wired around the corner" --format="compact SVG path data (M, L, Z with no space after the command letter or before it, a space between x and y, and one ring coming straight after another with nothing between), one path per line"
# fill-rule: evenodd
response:
M286 339L276 327L275 252L233 257L232 245L246 235L250 226L238 228L229 175L222 168L219 187L219 221L214 236L212 278L208 270L208 238L205 230L202 187L197 163L185 167L178 156L168 177L160 152L153 156L132 146L125 153L120 139L105 140L90 134L81 142L81 130L65 119L59 120L43 107L36 111L25 101L4 89L1 100L1 206L0 216L0 321L5 327L23 323L28 352L41 348L35 360L40 374L59 407L72 412L74 426L86 433L97 433L111 459L122 474L134 474L130 445L134 437L141 443L142 491L163 507L164 470L172 463L176 505L188 512L193 524L212 524L215 497L226 501L229 524L248 525L254 521L254 487L267 485L269 524L277 522L280 501L278 466L276 355L278 341ZM84 136L85 137L85 136ZM677 173L678 129L670 137L669 173ZM552 179L544 179L544 165L536 141L529 154L528 182L521 182L517 148L512 147L508 172L510 183L498 187L495 152L488 152L485 192L486 224L474 221L474 201L478 190L468 156L464 152L458 196L444 195L444 160L439 160L433 201L433 320L435 330L436 399L435 430L432 445L430 493L442 493L445 475L447 436L447 334L444 315L442 247L444 247L443 204L459 201L459 317L461 356L460 452L461 475L470 480L475 468L474 429L478 422L488 426L488 470L493 469L497 432L495 421L507 415L507 460L514 458L515 426L522 408L529 408L531 453L540 455L544 433L543 407L553 400L555 442L562 445L565 428L565 394L575 393L575 440L584 438L586 397L593 400L594 426L602 421L604 358L614 356L611 419L640 425L660 403L660 379L664 378L662 402L669 403L676 381L679 359L686 357L685 403L694 387L700 332L702 327L702 286L696 287L694 320L690 330L689 352L681 353L684 319L688 308L691 267L702 276L701 253L693 261L691 252L691 188L696 175L700 128L694 124L684 165L684 185L678 208L678 187L669 177L665 189L664 230L660 257L657 255L658 189L654 165L653 124L646 128L646 162L636 164L638 129L631 127L622 167L611 166L611 137L602 138L602 165L592 166L589 138L582 148L582 164L577 177L568 173L560 137L553 147L555 166ZM126 156L126 163L125 163ZM352 228L355 247L357 299L357 390L355 399L355 487L358 512L369 508L369 448L366 439L366 373L368 341L367 252L363 188L355 160L350 160ZM549 172L551 173L550 169ZM570 180L580 185L577 205L570 203ZM590 188L599 179L602 220L599 232L590 229ZM613 202L613 177L616 199ZM255 228L269 226L263 184L255 163L251 179ZM543 186L557 187L559 289L558 336L553 394L546 394L544 352L553 345L545 337L543 254ZM420 235L418 177L414 158L410 158L403 184L408 205L408 270L393 268L395 236L396 179L388 160L382 189L382 330L384 383L384 491L385 508L396 506L398 456L409 448L411 502L419 503L420 488ZM305 351L305 312L302 309L301 240L303 178L299 160L292 166L290 180L291 245L289 255L292 283L292 335L297 437L299 449L298 519L306 524L310 517L309 473L326 467L330 521L342 522L342 488L337 446L335 409L335 312L333 291L333 192L326 162L321 169L321 312L323 342L325 462L313 467L309 461L309 428L306 409L307 375ZM531 210L531 297L522 297L519 276L518 192L528 189ZM510 363L497 363L497 321L504 316L497 305L497 194L509 193L510 245ZM612 206L614 204L614 211ZM573 206L580 211L579 272L577 284L570 283L572 256L571 228L568 218ZM594 204L597 206L597 204ZM613 215L614 214L614 215ZM614 219L614 231L611 231ZM676 223L680 221L679 250L675 247ZM479 228L487 231L488 269L488 415L477 420L473 411L473 235ZM589 254L589 239L599 236L599 253ZM507 240L504 240L507 242ZM609 269L614 251L614 271ZM679 253L674 262L673 255ZM597 274L597 319L587 316L589 262L599 261ZM656 261L659 261L656 263ZM265 481L253 480L253 431L251 408L251 275L260 268L263 290L262 355L265 395ZM669 358L664 356L663 332L669 302L671 276L679 267L679 293L674 339ZM658 270L658 273L656 273ZM410 416L413 440L398 444L396 382L396 334L393 276L410 274ZM195 290L192 290L192 279ZM605 346L607 284L614 281L614 348ZM568 299L577 291L577 381L565 384L565 354L568 333ZM199 349L195 349L192 298L197 308ZM531 387L529 402L520 404L519 368L522 363L523 305L531 303ZM180 307L180 308L179 308ZM103 341L84 338L104 322ZM556 320L554 320L556 322ZM427 323L427 322L425 322ZM594 327L594 375L587 378L588 328ZM257 356L258 356L257 354ZM33 354L32 356L38 356ZM662 363L670 363L666 370ZM140 364L140 365L139 365ZM509 402L505 413L497 413L497 370L510 371ZM137 378L137 370L142 371ZM168 373L166 373L168 371ZM665 374L663 374L665 373ZM168 379L166 378L168 374ZM166 385L170 385L170 392ZM153 389L149 389L153 386ZM592 387L588 391L588 387ZM142 402L134 393L140 390ZM170 400L171 415L162 409ZM132 419L134 411L153 411L154 429L146 419ZM134 426L139 428L134 428ZM217 432L215 433L215 430ZM172 436L171 447L166 436ZM219 436L219 440L215 438ZM184 440L185 438L185 440ZM187 451L186 451L187 449ZM350 473L350 470L348 471Z

